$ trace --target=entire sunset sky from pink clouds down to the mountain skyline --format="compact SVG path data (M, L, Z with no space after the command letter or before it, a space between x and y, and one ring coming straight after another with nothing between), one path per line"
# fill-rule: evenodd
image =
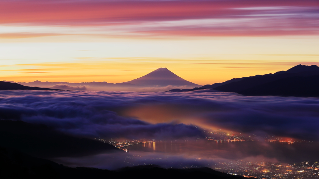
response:
M1 0L1 80L196 84L319 64L317 0Z

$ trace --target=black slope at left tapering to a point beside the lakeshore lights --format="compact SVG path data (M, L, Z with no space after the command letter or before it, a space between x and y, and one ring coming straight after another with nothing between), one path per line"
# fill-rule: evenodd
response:
M12 120L0 120L0 141L2 147L42 158L124 152L108 143L68 136L46 125Z

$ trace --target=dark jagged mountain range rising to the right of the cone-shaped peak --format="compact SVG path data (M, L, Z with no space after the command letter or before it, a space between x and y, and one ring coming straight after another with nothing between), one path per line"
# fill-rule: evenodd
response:
M226 82L204 85L199 89L215 89L222 92L235 92L247 96L319 96L319 67L297 65L287 71L274 74L234 78ZM169 91L178 91L177 89Z

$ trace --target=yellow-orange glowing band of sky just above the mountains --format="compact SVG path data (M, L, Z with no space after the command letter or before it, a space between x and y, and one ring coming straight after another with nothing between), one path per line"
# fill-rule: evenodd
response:
M220 55L222 56L222 55ZM246 56L259 59L290 58L282 60L215 60L214 58L169 59L169 58L120 58L97 61L89 59L73 62L48 62L0 66L1 80L14 82L126 82L144 76L157 68L167 68L181 78L205 85L224 82L232 78L264 75L287 70L295 65L319 65L313 62L317 55L224 55ZM298 61L300 57L309 61Z

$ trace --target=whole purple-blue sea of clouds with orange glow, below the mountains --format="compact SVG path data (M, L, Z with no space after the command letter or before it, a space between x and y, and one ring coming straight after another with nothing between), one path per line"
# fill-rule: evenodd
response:
M0 118L80 136L198 137L195 126L201 126L319 140L317 98L108 91L3 91L0 97Z

